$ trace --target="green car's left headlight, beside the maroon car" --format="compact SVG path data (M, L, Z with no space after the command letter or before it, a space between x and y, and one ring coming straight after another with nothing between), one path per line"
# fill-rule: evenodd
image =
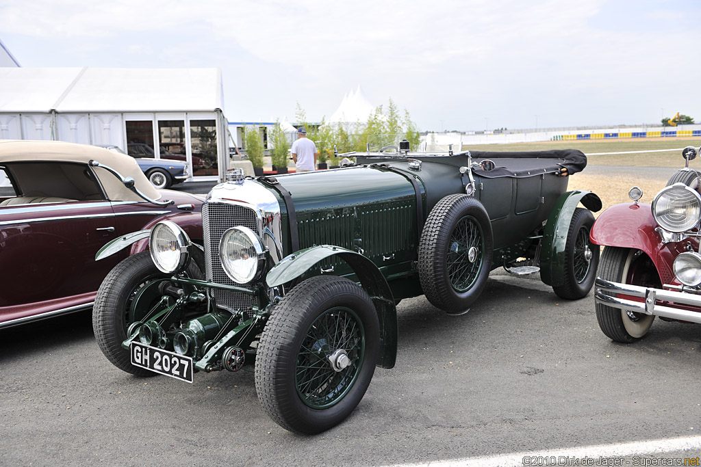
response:
M161 272L180 272L187 266L190 244L189 237L179 225L161 221L151 230L149 237L151 260Z

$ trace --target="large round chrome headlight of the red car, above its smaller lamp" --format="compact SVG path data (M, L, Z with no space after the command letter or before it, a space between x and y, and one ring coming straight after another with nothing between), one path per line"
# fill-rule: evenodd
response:
M653 217L669 232L693 229L701 218L701 196L682 183L662 188L653 200Z

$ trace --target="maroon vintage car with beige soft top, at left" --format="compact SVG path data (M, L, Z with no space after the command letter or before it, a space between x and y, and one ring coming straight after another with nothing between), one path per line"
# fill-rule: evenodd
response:
M148 248L147 233L123 246L119 239L158 221L177 223L201 243L203 201L156 190L128 155L0 141L0 328L92 307L107 273Z

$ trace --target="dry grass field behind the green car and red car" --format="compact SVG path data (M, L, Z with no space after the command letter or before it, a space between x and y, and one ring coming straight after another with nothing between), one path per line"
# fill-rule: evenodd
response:
M590 190L601 197L604 209L621 202L630 202L628 190L633 186L643 189L641 202L651 202L655 194L665 186L675 169L684 167L681 151L649 152L701 146L701 139L604 139L591 141L542 141L538 143L488 144L470 146L475 151L545 151L548 149L579 149L587 154L587 169L571 176L569 190ZM625 151L645 151L633 154L608 154ZM627 170L627 167L631 167ZM650 174L646 176L645 167ZM660 171L662 167L669 170ZM689 167L701 171L701 158L693 160ZM588 172L588 173L587 173ZM660 176L660 173L664 174ZM599 211L601 212L601 211ZM596 215L596 214L595 214Z

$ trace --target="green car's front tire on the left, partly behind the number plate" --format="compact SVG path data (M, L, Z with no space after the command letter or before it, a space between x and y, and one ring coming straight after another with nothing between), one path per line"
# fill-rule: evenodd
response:
M188 274L193 278L203 278L192 261L188 266ZM148 251L142 251L118 263L97 290L93 306L95 339L104 356L120 370L137 376L156 375L132 365L129 351L123 349L121 344L127 338L129 325L139 319L139 316L130 316L129 311L139 289L150 281L168 279L170 276L171 274L164 274L156 268Z

